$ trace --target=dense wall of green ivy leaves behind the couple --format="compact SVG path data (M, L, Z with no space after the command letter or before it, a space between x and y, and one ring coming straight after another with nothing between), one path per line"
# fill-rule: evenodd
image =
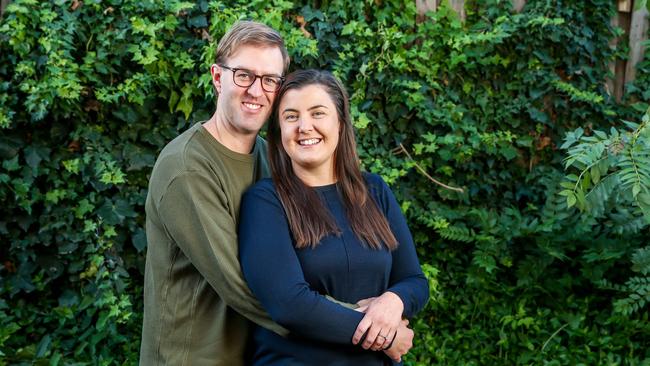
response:
M407 364L649 364L629 282L647 281L648 225L622 203L580 215L559 194L567 132L641 121L648 57L616 103L604 80L627 48L609 46L612 1L466 11L418 23L401 0L13 1L0 365L137 363L148 175L212 113L215 43L241 18L280 30L293 68L333 70L350 91L363 164L402 202L431 284Z

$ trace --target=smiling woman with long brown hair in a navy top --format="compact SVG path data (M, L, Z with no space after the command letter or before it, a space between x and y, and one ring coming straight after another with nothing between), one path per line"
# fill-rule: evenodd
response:
M256 328L252 363L391 364L410 348L402 318L428 298L406 220L382 179L361 173L348 97L334 76L297 71L278 93L268 130L273 179L242 199L239 250L251 290L291 335Z

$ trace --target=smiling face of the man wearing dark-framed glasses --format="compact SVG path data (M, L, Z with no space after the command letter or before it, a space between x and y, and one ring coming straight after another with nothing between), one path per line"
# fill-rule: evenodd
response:
M233 69L245 69L256 75L282 76L283 59L277 47L242 46L223 63ZM257 134L271 114L276 92L262 88L256 78L253 85L241 87L233 81L233 70L212 65L212 80L219 99L217 118L232 133Z

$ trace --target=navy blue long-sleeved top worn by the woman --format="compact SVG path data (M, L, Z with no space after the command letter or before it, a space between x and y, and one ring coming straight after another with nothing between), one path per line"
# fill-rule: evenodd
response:
M364 174L370 196L384 213L399 246L394 251L364 246L352 231L336 184L315 187L342 231L315 248L296 249L284 209L270 179L242 198L239 255L244 277L271 318L289 329L283 338L253 330L254 365L385 365L381 351L352 344L364 314L327 300L356 303L388 291L404 302L404 317L422 309L429 296L413 238L386 183Z

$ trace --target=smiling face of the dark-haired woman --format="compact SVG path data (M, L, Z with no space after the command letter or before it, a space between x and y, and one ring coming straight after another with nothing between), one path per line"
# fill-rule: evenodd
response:
M282 146L294 172L334 177L334 152L339 143L336 106L320 85L287 91L278 108ZM325 182L325 184L328 182Z

